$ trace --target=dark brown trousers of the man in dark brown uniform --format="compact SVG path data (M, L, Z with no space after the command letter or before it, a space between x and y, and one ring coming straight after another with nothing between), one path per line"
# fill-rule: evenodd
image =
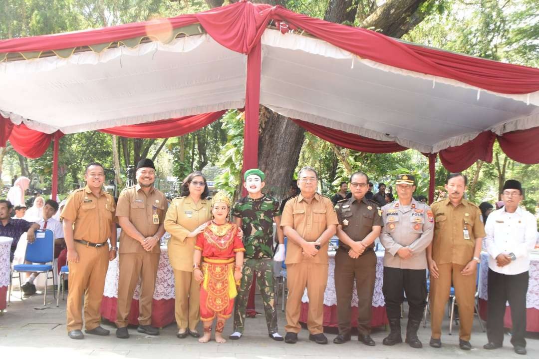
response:
M372 294L376 282L376 253L365 252L359 258L350 258L347 252L335 254L335 293L337 295L338 333L350 335L351 302L354 280L357 289L357 330L370 334L372 319Z

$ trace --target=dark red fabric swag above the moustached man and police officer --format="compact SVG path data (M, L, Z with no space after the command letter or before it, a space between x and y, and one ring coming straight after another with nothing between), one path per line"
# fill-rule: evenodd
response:
M492 162L492 146L495 139L494 133L481 132L475 139L460 146L441 150L440 161L451 172L464 171L477 160Z

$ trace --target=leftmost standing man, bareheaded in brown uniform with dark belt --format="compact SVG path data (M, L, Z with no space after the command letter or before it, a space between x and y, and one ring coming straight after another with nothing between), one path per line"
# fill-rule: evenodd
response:
M114 197L103 190L105 169L90 163L84 175L86 186L75 190L61 213L69 266L67 295L67 334L82 339L82 295L84 295L85 333L109 335L100 326L101 299L105 288L108 261L116 258ZM107 244L110 239L110 249Z

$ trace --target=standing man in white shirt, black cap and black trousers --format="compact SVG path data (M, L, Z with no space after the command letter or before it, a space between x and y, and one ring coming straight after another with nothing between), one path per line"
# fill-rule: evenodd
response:
M503 185L503 207L487 218L485 244L488 258L488 310L485 349L503 343L503 315L506 301L511 307L511 343L515 353L526 354L526 292L528 292L530 252L537 240L535 217L519 207L522 185L509 179Z

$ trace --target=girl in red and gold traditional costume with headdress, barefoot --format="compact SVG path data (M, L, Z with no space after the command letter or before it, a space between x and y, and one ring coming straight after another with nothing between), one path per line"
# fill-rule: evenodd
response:
M213 220L198 234L195 244L193 272L195 279L201 282L200 313L204 324L204 335L198 339L201 343L210 340L211 324L216 316L215 341L226 342L222 333L238 293L245 248L238 226L227 219L231 205L224 192L212 198Z

